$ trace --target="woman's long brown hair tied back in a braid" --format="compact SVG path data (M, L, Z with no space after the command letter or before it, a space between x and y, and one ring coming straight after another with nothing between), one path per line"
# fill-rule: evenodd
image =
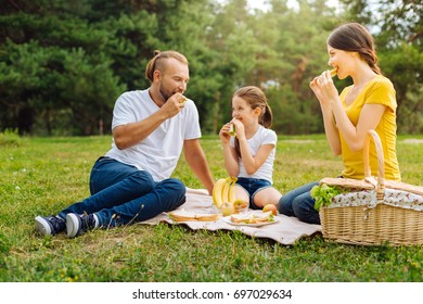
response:
M328 38L328 45L334 49L358 52L374 73L381 75L373 36L358 23L346 23L336 27Z

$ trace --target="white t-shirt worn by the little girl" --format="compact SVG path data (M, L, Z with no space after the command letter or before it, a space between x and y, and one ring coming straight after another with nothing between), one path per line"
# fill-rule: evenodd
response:
M264 144L273 144L273 149L271 150L269 156L265 161L265 163L252 175L248 175L246 173L246 169L244 167L244 163L242 162L242 159L239 160L240 164L240 174L239 177L247 177L247 178L258 178L258 179L266 179L269 180L271 183L273 183L273 162L274 162L274 155L275 155L275 147L277 147L278 136L277 134L271 130L267 129L264 126L259 126L256 134L251 138L247 139L249 152L252 153L253 157L257 154L258 149ZM231 137L230 144L232 147L235 145L234 138Z

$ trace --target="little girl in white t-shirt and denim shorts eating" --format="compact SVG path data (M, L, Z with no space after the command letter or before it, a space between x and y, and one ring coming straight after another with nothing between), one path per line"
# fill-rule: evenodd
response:
M265 93L257 87L239 89L232 97L233 119L223 125L219 137L225 166L236 176L236 199L254 210L277 205L282 194L272 187L277 134L269 129L272 112ZM231 125L235 137L231 137Z

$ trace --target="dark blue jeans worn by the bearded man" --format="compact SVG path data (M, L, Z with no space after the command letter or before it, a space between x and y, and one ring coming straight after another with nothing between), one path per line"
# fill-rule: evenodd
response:
M94 213L102 227L150 219L185 202L185 186L169 178L161 182L151 174L110 157L100 157L90 176L91 197L59 213Z

